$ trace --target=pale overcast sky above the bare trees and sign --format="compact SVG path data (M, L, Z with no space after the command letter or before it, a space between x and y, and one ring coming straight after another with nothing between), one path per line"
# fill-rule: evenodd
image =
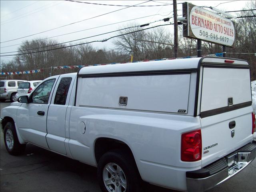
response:
M154 22L162 20L167 17L173 16L172 0L115 0L115 1L98 1L98 0L76 0L80 2L89 2L97 4L114 4L114 5L161 5L161 6L147 6L147 7L123 7L123 6L105 6L96 4L85 4L79 2L72 2L66 0L0 0L0 52L13 52L17 51L20 45L25 40L32 41L38 38L49 38L58 36L70 32L80 31L73 34L67 34L59 37L50 38L58 42L67 42L70 40L76 40L97 34L110 32L125 28L127 26L136 26L146 24L148 22ZM250 1L239 0L188 0L177 1L178 15L182 15L182 2L190 2L197 6L212 6L222 11L234 11L241 10L246 7L246 4ZM122 9L122 10L120 10ZM114 12L115 11L115 12ZM109 13L112 12L112 13ZM107 14L109 13L109 14ZM104 14L103 16L100 16ZM236 13L230 13L236 16ZM98 17L96 17L98 16ZM93 18L95 17L95 18ZM144 17L144 18L141 18ZM140 18L133 20L135 18ZM82 21L83 20L83 21ZM131 20L128 22L122 22ZM81 21L81 22L80 22ZM76 23L74 23L76 22ZM113 24L116 22L122 22L119 24ZM170 22L173 22L171 19ZM72 24L74 23L74 24ZM69 25L68 25L69 24ZM100 28L107 24L113 24ZM166 24L166 22L154 22L148 27ZM65 26L67 25L67 26ZM62 27L63 26L63 27ZM60 27L60 28L59 28ZM58 29L54 29L58 28ZM90 29L95 28L95 29ZM161 27L163 30L173 33L173 25ZM52 30L54 29L54 30ZM88 30L89 29L89 30ZM44 32L47 31L48 32ZM43 33L40 33L43 32ZM40 33L40 34L37 34ZM32 35L36 34L36 35ZM32 35L32 36L30 36ZM103 40L111 36L117 35L117 32L88 38L86 40L76 41L78 42L90 42L93 40ZM29 36L25 37L24 36ZM17 39L19 38L19 39ZM17 40L14 40L17 39ZM10 41L11 40L11 41ZM113 49L113 40L106 42L92 43L94 48L106 48ZM8 41L8 42L5 42ZM6 47L8 46L8 47ZM10 53L16 54L17 52ZM6 55L6 54L1 54ZM12 60L14 56L0 57L0 62L8 62Z

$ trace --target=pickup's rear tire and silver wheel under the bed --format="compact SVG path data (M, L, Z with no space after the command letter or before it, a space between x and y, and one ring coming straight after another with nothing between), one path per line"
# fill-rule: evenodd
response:
M98 163L103 192L141 192L142 179L132 155L122 150L106 152Z

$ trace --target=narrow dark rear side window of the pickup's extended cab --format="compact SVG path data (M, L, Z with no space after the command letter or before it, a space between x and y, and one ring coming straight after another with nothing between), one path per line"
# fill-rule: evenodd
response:
M54 99L54 104L57 105L65 105L66 99L68 95L69 86L71 83L71 77L64 77L60 80L60 84L58 85L56 96Z

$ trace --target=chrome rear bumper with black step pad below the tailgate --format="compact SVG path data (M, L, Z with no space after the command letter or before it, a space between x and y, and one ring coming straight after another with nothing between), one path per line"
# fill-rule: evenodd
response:
M242 171L256 157L253 141L232 154L195 171L186 172L188 192L204 192Z

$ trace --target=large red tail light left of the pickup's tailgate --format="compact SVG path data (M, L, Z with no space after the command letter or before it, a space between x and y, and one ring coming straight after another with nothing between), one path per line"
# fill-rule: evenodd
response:
M198 161L202 158L201 130L196 130L181 135L181 160Z

